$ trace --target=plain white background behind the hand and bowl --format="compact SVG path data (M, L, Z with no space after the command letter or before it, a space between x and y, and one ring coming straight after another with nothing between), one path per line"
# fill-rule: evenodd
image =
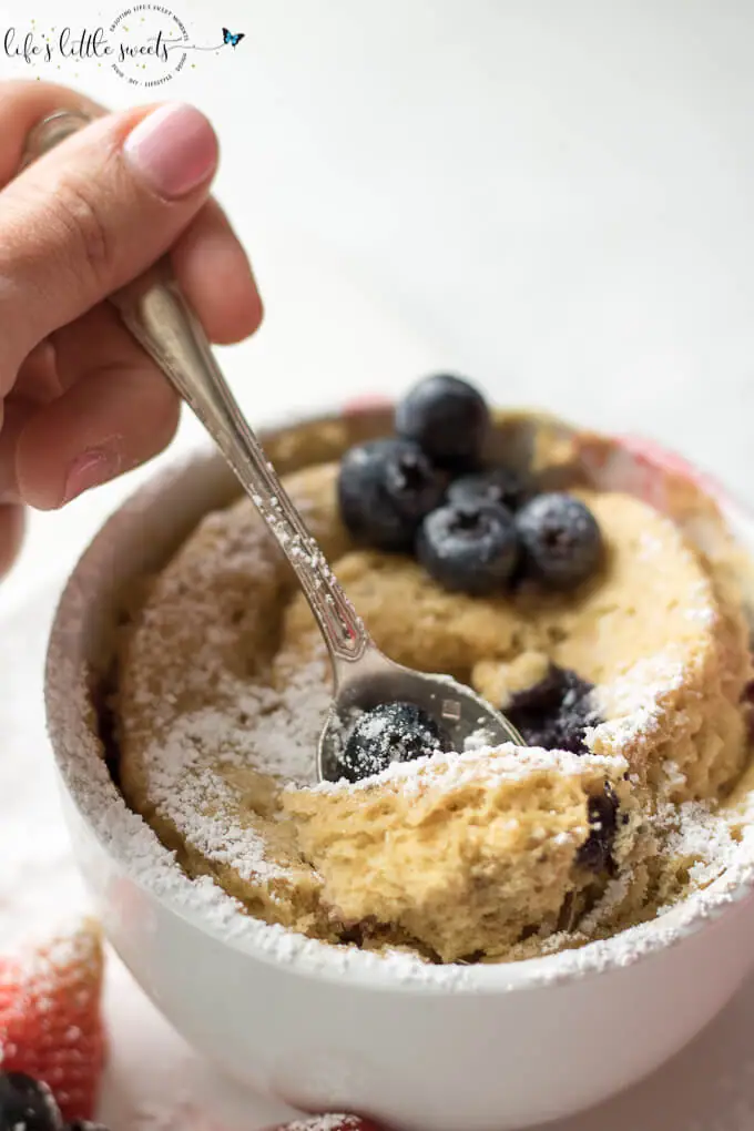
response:
M453 365L499 400L662 439L754 501L749 0L172 2L196 42L245 33L161 96L220 135L217 191L268 310L223 352L254 423ZM120 7L0 16L94 27ZM0 69L153 96L106 63ZM129 487L34 523L0 602L67 567Z

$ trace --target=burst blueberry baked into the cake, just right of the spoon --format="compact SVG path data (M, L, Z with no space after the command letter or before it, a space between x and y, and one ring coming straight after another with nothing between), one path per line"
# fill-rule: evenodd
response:
M599 723L593 690L575 672L551 664L544 680L511 698L505 715L530 746L586 754L584 731Z

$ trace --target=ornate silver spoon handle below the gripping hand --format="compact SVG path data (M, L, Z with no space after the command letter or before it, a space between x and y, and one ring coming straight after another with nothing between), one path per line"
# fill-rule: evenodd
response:
M243 417L198 318L166 265L110 297L122 321L217 443L291 562L330 650L355 662L370 640L361 618Z

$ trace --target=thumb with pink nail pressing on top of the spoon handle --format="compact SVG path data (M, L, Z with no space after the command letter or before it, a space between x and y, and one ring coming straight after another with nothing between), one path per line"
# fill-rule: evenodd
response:
M0 396L44 337L136 278L207 199L207 119L180 103L97 119L0 192Z

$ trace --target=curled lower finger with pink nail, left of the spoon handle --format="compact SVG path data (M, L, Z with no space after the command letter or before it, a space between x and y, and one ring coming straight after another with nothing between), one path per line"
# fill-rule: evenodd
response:
M18 497L41 510L70 502L150 459L170 443L179 421L173 389L110 307L60 330L54 345L64 391L27 413L15 430L11 457ZM14 429L3 428L3 433L12 442ZM8 463L3 433L0 474Z

